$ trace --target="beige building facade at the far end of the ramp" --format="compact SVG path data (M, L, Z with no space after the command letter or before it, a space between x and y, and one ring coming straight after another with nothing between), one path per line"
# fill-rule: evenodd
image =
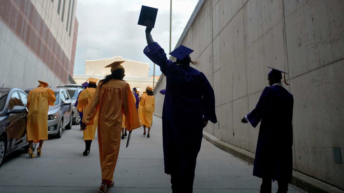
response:
M85 74L76 74L74 75L73 79L77 84L86 82L89 77L104 79L105 76L111 73L110 68L104 67L113 63L114 61L125 61L121 64L125 69L126 76L124 77L124 80L129 83L131 89L137 88L137 90L142 93L146 90L148 85L153 86L153 77L149 77L148 63L122 58L121 56L98 60L86 60ZM156 84L157 81L158 80L154 80L154 84Z

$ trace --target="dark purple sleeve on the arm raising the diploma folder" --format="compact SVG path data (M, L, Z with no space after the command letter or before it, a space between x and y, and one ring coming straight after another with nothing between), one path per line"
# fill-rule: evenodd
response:
M146 46L143 53L154 63L160 66L161 72L167 77L175 70L175 65L168 60L164 49L157 42L153 42Z

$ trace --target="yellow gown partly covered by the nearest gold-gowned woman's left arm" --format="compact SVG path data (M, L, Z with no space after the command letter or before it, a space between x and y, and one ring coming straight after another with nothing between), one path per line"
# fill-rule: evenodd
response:
M83 114L87 112L87 107L91 103L93 94L96 92L95 88L87 88L80 92L78 98L78 105L76 106L77 109L83 109ZM85 140L94 140L94 136L96 135L97 130L97 122L98 122L98 114L94 117L94 124L88 125L87 129L84 130L84 141Z

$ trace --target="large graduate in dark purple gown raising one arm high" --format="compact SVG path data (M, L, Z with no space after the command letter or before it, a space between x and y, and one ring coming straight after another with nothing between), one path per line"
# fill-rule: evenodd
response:
M148 46L143 53L160 66L166 77L162 113L165 173L171 175L173 192L192 192L203 128L208 121L217 122L214 90L204 74L190 66L195 64L189 56L193 50L178 47L170 53L177 58L173 63L153 41L151 22L146 25Z

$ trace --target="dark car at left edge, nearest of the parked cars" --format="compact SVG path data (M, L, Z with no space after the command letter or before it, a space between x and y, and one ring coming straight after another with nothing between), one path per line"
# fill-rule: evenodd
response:
M26 142L26 103L28 95L17 88L0 87L0 166L15 150L29 149ZM36 143L33 143L33 150Z

